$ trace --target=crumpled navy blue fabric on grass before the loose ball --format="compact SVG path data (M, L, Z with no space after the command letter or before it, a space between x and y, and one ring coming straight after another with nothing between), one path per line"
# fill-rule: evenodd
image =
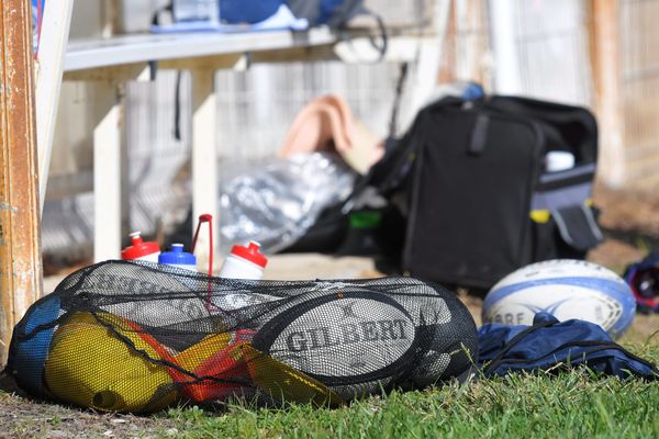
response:
M607 375L659 378L655 364L614 342L599 325L579 319L558 322L548 313L536 314L533 326L483 325L478 345L484 376L587 364Z

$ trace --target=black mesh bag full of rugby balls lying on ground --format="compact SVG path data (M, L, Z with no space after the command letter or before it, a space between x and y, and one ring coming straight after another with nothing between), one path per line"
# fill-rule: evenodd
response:
M14 329L8 370L38 397L146 413L232 397L334 406L466 373L476 325L411 278L242 281L109 261Z

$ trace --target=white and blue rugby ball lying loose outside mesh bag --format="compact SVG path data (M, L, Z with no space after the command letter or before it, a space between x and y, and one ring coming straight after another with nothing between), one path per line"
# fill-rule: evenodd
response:
M613 271L595 263L556 259L533 263L503 278L485 296L483 323L532 325L536 313L559 320L579 318L619 337L636 313L634 294Z

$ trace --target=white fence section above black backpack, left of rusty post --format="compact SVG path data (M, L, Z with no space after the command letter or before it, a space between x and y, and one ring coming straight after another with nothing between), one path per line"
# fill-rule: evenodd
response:
M501 91L590 106L593 85L588 1L511 0L490 4L494 40L504 35L500 47L495 47L496 75L514 76L509 88ZM513 55L502 56L509 47Z

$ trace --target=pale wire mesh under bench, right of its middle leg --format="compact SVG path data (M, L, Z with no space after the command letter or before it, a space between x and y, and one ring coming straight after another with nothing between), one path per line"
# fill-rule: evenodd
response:
M384 137L398 66L340 61L256 65L217 74L217 155L255 159L275 155L298 112L312 99L336 93L355 115ZM221 170L222 172L222 170Z

